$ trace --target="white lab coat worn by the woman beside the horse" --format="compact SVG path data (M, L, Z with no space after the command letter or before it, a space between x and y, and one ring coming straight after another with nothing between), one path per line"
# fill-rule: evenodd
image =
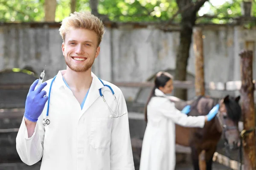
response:
M140 158L140 170L175 170L175 123L204 127L204 116L187 116L159 89L147 106L148 123Z

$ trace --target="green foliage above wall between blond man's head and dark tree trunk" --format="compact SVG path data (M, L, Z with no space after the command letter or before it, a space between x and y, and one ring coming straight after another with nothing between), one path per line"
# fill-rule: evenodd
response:
M169 20L178 10L175 0L100 0L98 9L124 22Z

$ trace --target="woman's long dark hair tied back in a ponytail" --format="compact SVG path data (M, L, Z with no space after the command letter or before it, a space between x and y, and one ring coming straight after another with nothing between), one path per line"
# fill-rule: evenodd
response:
M152 88L151 93L148 96L148 100L145 105L145 112L144 112L145 122L148 122L147 106L148 106L148 103L150 102L151 98L156 96L155 95L156 88L164 87L166 85L166 82L168 82L170 79L173 79L173 77L171 74L169 74L167 72L160 71L156 74L156 77L154 79L154 87Z

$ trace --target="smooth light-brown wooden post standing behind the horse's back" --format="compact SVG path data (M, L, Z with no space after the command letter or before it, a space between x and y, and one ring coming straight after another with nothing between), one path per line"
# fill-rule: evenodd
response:
M205 94L204 89L204 49L203 35L201 28L195 28L193 31L194 53L195 53L195 94L200 96Z

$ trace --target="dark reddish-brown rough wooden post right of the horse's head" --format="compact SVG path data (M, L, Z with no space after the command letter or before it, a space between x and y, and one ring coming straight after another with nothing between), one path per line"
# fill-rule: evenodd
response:
M254 84L253 84L253 52L246 50L241 51L241 109L243 113L244 130L255 127L254 112ZM256 148L255 148L255 131L247 133L244 136L243 158L245 170L256 170Z

